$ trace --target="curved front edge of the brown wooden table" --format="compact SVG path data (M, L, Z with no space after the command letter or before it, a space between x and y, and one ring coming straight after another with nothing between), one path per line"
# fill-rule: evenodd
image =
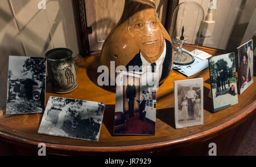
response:
M255 112L256 109L256 100L251 102L249 106L237 117L234 117L230 119L229 121L222 123L221 125L218 125L216 127L212 127L209 130L202 131L197 134L193 134L190 136L185 136L183 138L174 139L174 140L168 140L165 142L158 142L158 143L150 143L150 144L141 144L141 145L129 145L129 146L117 146L117 147L86 147L86 146L76 146L76 145L64 145L64 144L56 144L56 143L45 143L46 148L53 149L53 150L59 150L59 151L65 151L65 152L133 152L133 151L142 151L142 150L148 150L148 149L156 149L156 148L162 148L162 147L168 147L178 144L183 144L185 142L191 142L191 141L199 141L211 139L214 136L217 136L219 132L224 132L225 130L232 129L233 127L236 127L241 122L244 122L251 114ZM7 143L13 143L18 145L28 145L28 146L34 146L35 148L38 147L39 143L43 143L37 140L31 140L22 138L20 136L16 136L13 134L9 134L7 132L4 132L1 130L0 127L0 140L3 140Z

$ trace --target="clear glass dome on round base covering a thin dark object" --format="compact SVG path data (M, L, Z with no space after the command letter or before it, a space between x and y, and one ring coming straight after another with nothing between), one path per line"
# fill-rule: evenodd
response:
M189 65L199 43L204 23L203 7L197 2L183 2L172 15L170 36L174 45L174 63Z

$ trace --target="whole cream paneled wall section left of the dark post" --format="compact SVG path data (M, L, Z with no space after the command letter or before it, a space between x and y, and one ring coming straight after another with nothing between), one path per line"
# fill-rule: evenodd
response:
M44 57L52 48L79 54L72 1L1 0L0 3L0 109L6 105L9 55Z

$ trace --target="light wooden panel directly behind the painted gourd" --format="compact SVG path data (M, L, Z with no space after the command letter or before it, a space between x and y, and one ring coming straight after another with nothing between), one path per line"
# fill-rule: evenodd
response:
M156 0L156 12L164 25L166 21L166 0ZM125 0L85 0L86 19L93 29L88 35L90 50L101 50L105 38L113 30L121 18Z

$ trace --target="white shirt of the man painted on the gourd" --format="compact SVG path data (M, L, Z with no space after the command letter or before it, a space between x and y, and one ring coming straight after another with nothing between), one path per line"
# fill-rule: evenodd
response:
M155 72L158 72L159 80L161 79L161 76L162 76L164 58L166 58L166 41L165 40L164 40L164 50L160 55L160 57L155 61L156 63ZM143 57L142 54L141 54L141 61L142 61L142 72L151 72L152 71L151 63L148 62Z

